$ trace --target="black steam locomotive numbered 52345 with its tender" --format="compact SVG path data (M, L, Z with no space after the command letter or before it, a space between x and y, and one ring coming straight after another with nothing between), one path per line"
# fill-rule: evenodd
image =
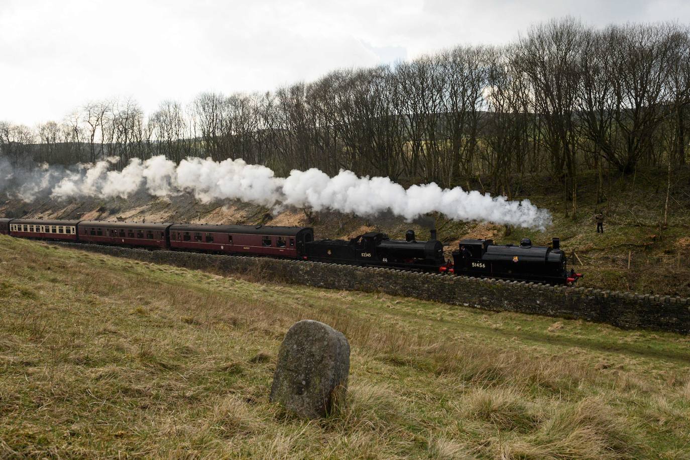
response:
M435 232L428 241L416 241L412 230L408 230L404 240L368 232L350 241L312 241L305 248L305 259L320 262L430 271L437 271L444 263L443 245L435 238Z

